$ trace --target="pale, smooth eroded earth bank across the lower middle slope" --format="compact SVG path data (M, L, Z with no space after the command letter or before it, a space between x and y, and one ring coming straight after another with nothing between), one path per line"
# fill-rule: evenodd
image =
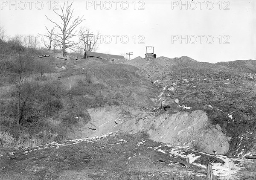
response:
M99 130L92 130L90 123L73 132L71 138L96 136L111 131L131 134L148 133L149 138L159 142L193 147L207 153L225 154L229 150L229 136L223 134L219 125L211 125L202 110L180 111L174 114L148 112L142 109L109 107L89 109L91 123Z

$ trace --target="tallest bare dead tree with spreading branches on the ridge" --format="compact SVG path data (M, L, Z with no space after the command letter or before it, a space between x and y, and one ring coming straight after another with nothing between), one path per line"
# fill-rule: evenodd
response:
M73 3L73 2L72 2ZM54 35L56 36L56 38L54 37L53 40L57 41L59 44L61 44L61 51L62 51L62 55L63 57L66 57L67 54L67 49L71 49L74 50L74 46L76 46L75 41L72 41L71 38L73 38L76 35L76 27L84 20L83 17L76 17L76 19L71 23L70 20L73 18L73 11L74 9L71 9L72 3L70 5L68 5L68 2L66 4L66 1L64 2L64 6L61 7L61 14L58 14L57 12L55 12L56 15L58 15L59 17L61 17L62 23L61 25L59 25L58 23L50 20L47 15L45 15L47 17L47 19L49 21L51 21L52 23L55 24L55 27L58 28L61 33L54 33ZM66 6L65 6L66 5ZM58 38L57 38L58 37Z

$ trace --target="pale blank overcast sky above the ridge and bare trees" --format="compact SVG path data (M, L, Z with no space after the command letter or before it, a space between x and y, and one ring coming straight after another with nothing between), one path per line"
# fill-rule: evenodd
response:
M53 9L60 12L64 1L0 3L0 26L10 37L45 34L45 26L54 26L45 15L61 24ZM256 59L255 0L75 0L72 7L74 17L84 15L79 26L100 31L98 52L144 58L145 46L154 46L157 57L186 55L210 63Z

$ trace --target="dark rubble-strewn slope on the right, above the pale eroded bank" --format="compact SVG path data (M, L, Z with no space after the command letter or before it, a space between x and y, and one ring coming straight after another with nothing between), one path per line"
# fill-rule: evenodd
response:
M161 90L158 105L175 105L178 99L179 106L203 110L212 125L219 125L224 135L231 137L229 154L256 153L252 143L256 139L255 60L211 64L186 56L137 57L126 63L138 67ZM172 108L167 110L174 112Z

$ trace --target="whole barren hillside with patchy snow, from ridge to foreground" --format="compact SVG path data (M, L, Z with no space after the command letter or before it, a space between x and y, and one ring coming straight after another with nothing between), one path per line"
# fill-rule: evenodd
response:
M211 64L186 56L127 61L69 54L64 61L57 58L58 52L43 52L49 58L38 58L40 53L33 58L49 61L51 70L41 76L30 74L28 84L35 82L36 91L34 85L29 86L33 98L24 103L22 122L26 123L20 128L13 126L15 101L10 92L15 85L8 82L8 75L1 76L4 120L0 131L14 139L26 135L30 142L25 145L17 140L22 145L16 150L1 148L3 179L15 177L16 170L18 179L82 179L86 174L102 178L97 172L119 179L134 174L179 179L186 156L191 158L192 179L203 179L207 163L216 163L217 179L225 177L223 173L232 179L241 173L244 157L256 155L255 60ZM47 93L42 91L46 87L49 94L34 95ZM53 129L58 126L63 127ZM64 134L55 136L60 131ZM48 145L39 142L42 136L47 136ZM78 140L82 138L88 139ZM233 167L227 168L231 162ZM138 167L143 168L138 171ZM177 171L167 170L170 167ZM166 170L159 173L162 169Z

